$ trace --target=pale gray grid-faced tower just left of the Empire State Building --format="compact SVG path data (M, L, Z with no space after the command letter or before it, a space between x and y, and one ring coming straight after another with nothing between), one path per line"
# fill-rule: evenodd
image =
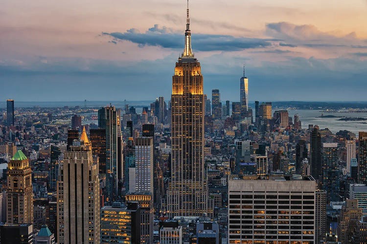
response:
M153 194L153 151L152 137L138 137L135 140L136 192Z

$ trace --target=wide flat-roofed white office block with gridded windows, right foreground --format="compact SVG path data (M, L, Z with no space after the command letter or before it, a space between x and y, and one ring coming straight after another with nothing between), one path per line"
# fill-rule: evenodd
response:
M315 243L315 180L229 176L229 243Z

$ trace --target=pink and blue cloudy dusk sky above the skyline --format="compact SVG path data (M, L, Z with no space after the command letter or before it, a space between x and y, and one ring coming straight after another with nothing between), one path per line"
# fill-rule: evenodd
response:
M204 92L367 101L367 0L190 0ZM0 99L154 100L172 91L186 0L2 0Z

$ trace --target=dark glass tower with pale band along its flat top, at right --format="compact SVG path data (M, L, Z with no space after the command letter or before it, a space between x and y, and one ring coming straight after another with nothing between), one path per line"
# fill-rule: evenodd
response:
M338 143L322 143L322 189L326 202L340 201L340 170L338 168Z

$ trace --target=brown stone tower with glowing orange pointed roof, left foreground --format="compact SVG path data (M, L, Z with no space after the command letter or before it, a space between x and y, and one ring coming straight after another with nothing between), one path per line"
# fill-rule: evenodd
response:
M100 243L98 165L85 128L64 154L57 182L58 244Z

